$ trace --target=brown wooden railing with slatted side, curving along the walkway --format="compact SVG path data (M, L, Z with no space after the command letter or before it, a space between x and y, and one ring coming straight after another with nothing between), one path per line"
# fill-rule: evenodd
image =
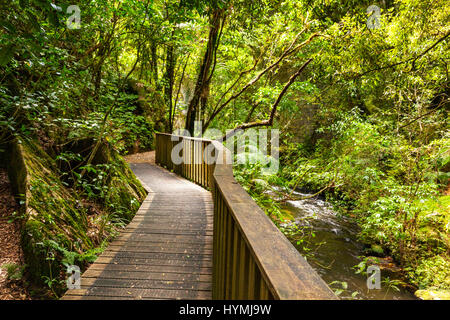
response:
M182 163L174 163L172 150ZM226 160L230 152L217 141L156 134L156 163L212 192L213 299L337 299Z

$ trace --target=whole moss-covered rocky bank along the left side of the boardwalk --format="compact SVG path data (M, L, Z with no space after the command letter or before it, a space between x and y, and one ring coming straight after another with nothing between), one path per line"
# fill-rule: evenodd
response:
M57 295L64 289L65 267L83 268L95 260L116 228L131 220L146 192L106 143L84 178L72 172L80 177L72 185L65 181L68 172L33 139L14 140L5 153L8 175L22 204L19 219L27 273L32 282L47 284ZM94 171L98 167L101 172ZM102 193L88 194L89 184L100 186ZM88 210L87 203L99 210Z

